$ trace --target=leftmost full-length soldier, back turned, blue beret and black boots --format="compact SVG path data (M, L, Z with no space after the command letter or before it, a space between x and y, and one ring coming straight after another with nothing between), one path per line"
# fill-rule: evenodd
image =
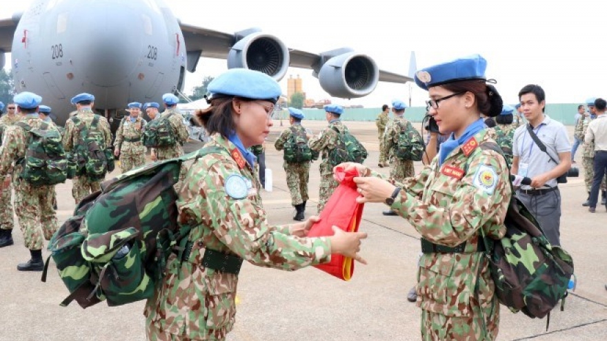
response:
M17 111L21 113L21 122L37 129L43 125L38 115L38 105L42 97L32 92L21 92L13 99L17 104ZM57 130L54 125L49 130ZM59 132L57 130L57 132ZM17 161L26 155L29 133L19 125L7 128L0 147L0 178L10 181L10 172L14 176L15 213L19 219L19 227L23 232L26 247L30 250L30 260L17 265L19 271L42 271L43 240L50 240L57 231L57 216L52 208L52 187L49 185L32 185L20 178L23 165ZM0 186L6 186L7 181ZM12 230L3 230L12 231ZM6 232L5 232L6 233ZM9 234L10 236L10 234ZM12 238L11 238L12 241Z

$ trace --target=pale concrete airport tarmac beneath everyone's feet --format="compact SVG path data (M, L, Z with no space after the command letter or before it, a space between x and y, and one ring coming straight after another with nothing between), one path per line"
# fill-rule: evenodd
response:
M378 142L374 122L345 122L350 132L366 145L367 165L377 167ZM306 122L318 133L326 122ZM273 141L288 121L275 121L266 146L266 165L274 174L272 192L262 191L263 205L274 224L292 223L282 153ZM419 124L417 125L419 128ZM573 136L573 127L568 127ZM573 138L572 138L573 141ZM577 153L581 167L581 148ZM315 214L319 187L319 161L310 172L310 200L306 216ZM417 171L421 163L415 163ZM555 309L546 318L530 319L501 307L497 340L607 340L607 211L597 207L590 214L583 178L569 178L559 186L562 196L561 243L575 262L577 288L566 299L564 311ZM74 209L71 183L57 186L59 222ZM419 234L406 220L383 216L385 205L364 207L361 231L368 233L354 276L344 282L315 268L287 272L245 263L239 276L236 324L230 341L316 340L420 340L420 311L406 295L416 281ZM17 221L17 220L15 220ZM17 226L16 226L17 227ZM143 302L107 307L102 302L86 310L77 303L60 307L68 291L54 263L46 283L41 273L17 271L17 263L29 259L18 229L15 245L0 249L0 341L146 340ZM45 245L46 246L46 245ZM48 251L43 251L48 256Z

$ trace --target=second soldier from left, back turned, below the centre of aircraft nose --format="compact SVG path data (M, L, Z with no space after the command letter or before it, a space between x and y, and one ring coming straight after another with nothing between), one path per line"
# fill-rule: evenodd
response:
M110 123L108 120L92 112L92 106L94 105L94 96L83 92L77 94L71 100L73 105L76 105L76 114L68 118L66 121L66 132L63 134L63 147L66 152L77 152L77 146L82 143L81 140L81 129L86 128L88 132L91 130L98 130L103 136L102 144L99 147L106 149L112 144L112 133L110 132ZM74 123L74 118L77 119L79 124ZM93 127L92 123L94 118L97 118L99 123ZM80 201L91 193L99 191L101 189L101 180L99 178L91 178L87 174L81 174L72 178L72 196L76 201L76 205Z

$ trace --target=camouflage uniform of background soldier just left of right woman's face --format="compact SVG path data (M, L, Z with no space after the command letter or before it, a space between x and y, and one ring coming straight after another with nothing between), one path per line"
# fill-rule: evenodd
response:
M399 136L406 129L408 123L409 121L403 116L395 116L394 120L386 125L386 133L384 134L384 154L390 158L390 180L398 182L415 175L413 161L400 160L395 153Z

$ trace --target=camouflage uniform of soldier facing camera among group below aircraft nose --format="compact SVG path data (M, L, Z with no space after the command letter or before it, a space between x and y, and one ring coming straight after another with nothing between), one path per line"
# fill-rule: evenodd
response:
M116 131L114 145L120 150L120 169L123 173L146 164L146 147L141 143L145 126L146 120L143 118L137 117L132 122L130 116L126 116Z

